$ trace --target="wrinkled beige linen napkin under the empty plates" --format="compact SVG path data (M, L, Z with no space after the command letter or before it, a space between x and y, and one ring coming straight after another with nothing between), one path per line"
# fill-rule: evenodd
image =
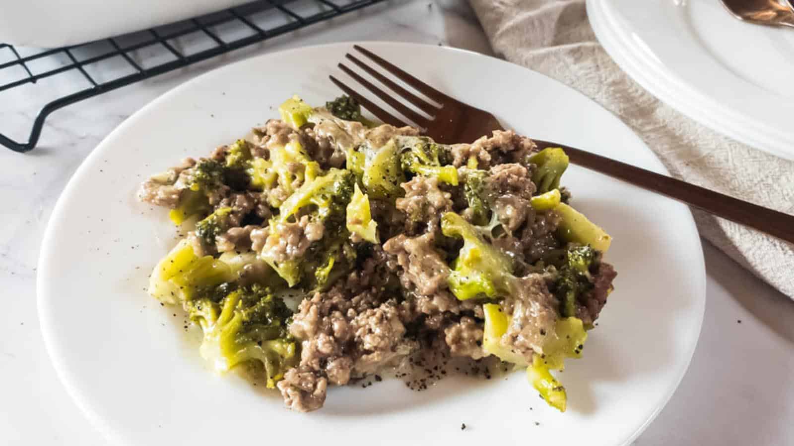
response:
M794 214L794 162L730 140L634 83L595 39L584 0L469 0L494 51L615 113L678 179ZM700 235L794 298L794 245L692 210Z

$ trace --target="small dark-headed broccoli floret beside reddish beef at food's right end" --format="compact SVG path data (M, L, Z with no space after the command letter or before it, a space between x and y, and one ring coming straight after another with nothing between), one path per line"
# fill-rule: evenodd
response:
M560 313L564 317L576 316L576 298L592 289L590 271L594 271L600 261L600 253L587 245L571 244L565 252L565 263L555 281Z

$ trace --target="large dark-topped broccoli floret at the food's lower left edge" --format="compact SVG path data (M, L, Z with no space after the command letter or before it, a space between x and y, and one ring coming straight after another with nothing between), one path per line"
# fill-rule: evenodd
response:
M298 345L287 332L291 311L267 287L238 287L220 300L210 294L186 302L185 308L204 332L200 352L215 371L247 364L264 371L272 388L299 359Z

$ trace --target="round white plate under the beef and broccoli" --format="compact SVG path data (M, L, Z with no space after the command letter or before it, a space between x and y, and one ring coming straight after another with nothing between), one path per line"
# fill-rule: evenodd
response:
M533 71L436 46L363 45L520 133L665 171L626 125ZM138 184L276 117L292 94L313 104L337 96L327 76L340 75L351 48L297 48L202 75L135 113L79 167L52 213L38 273L44 340L71 396L118 444L629 444L692 357L703 253L686 206L580 167L564 183L574 206L614 236L607 258L619 276L584 359L561 375L566 413L546 406L523 373L445 379L420 393L387 379L333 388L318 412L293 413L275 391L208 371L199 330L186 333L181 313L145 293L175 230L165 210L137 202Z

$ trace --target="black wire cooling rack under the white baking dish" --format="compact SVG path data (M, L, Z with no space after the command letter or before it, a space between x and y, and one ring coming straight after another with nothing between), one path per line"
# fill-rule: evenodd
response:
M29 54L25 54L22 48L0 44L0 53L6 52L8 60L3 62L0 59L0 75L3 71L17 71L16 75L0 76L0 107L4 103L3 92L29 87L42 79L78 73L87 81L87 87L82 90L44 103L33 118L27 142L20 143L0 133L0 144L15 152L29 152L36 147L44 120L64 106L384 1L263 0L138 33L71 47L32 51L26 48ZM196 34L202 37L198 49L193 48L191 52L190 48L177 44L180 38ZM194 42L198 40L193 39ZM145 51L152 48L156 51ZM158 52L160 54L155 57ZM108 76L101 72L102 63L110 61L116 65L114 72L119 72L118 64L121 63L129 74L106 79ZM38 66L45 68L37 69Z

